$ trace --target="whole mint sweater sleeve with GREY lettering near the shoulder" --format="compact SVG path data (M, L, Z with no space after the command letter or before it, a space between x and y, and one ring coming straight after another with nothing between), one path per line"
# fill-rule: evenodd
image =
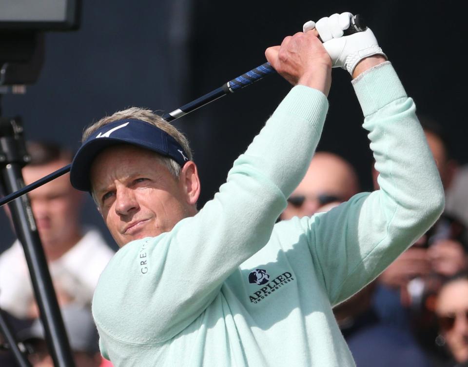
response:
M234 269L268 242L312 159L327 109L321 92L292 88L213 200L172 231L117 252L93 299L101 345L163 342L203 312Z

